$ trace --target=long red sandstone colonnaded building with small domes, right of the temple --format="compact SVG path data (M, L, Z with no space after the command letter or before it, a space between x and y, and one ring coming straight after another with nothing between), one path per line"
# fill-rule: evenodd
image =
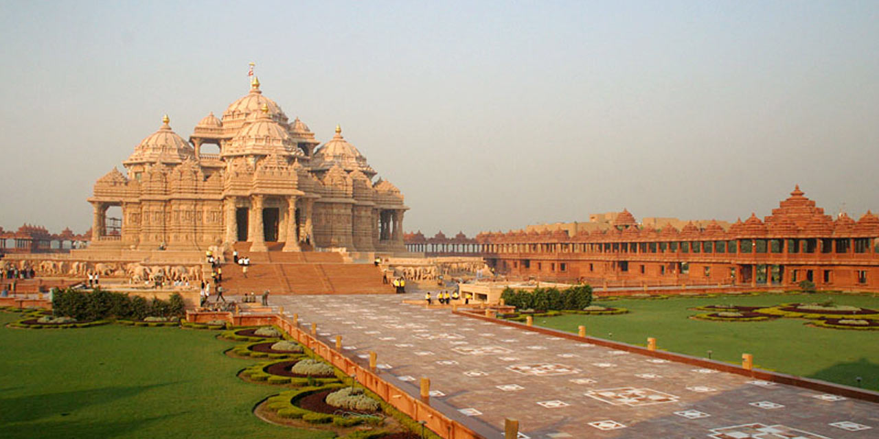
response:
M627 210L607 221L458 234L406 234L410 251L479 255L512 278L611 286L742 285L795 287L808 280L822 289L879 290L879 218L867 212L836 218L806 198L799 186L764 219L753 213L733 224L716 220L636 222ZM573 224L573 223L572 223ZM537 229L541 230L538 231Z

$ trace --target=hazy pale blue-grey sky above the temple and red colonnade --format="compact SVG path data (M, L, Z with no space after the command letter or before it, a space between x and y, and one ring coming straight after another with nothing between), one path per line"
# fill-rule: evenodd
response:
M407 230L879 210L879 2L0 1L0 225L91 227L160 125L247 93L399 187ZM211 152L211 151L207 151Z

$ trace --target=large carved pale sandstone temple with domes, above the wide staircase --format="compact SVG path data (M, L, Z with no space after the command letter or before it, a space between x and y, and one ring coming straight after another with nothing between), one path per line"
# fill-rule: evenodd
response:
M229 248L265 251L347 248L404 251L403 194L376 172L337 126L323 146L301 120L251 90L222 119L209 114L189 141L167 116L123 162L98 179L91 248ZM220 154L202 154L214 144ZM107 233L107 209L120 206L119 234Z

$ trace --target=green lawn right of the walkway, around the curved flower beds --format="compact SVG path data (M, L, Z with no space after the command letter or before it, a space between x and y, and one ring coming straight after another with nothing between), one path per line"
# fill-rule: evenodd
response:
M656 337L659 349L691 356L708 356L730 363L741 363L742 353L754 355L757 367L823 379L844 385L879 390L879 331L853 331L807 327L806 320L778 319L756 322L701 321L687 319L699 313L693 306L734 304L772 306L786 302L822 302L879 309L879 298L851 295L761 295L718 298L621 299L598 302L621 306L631 313L621 315L566 314L537 317L534 324L576 333L578 325L586 334L646 346L647 337Z

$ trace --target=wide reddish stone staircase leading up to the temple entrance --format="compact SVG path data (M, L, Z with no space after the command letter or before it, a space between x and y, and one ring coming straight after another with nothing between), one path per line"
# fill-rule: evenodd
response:
M226 253L222 265L224 294L238 295L269 290L272 294L375 294L393 293L383 282L381 269L372 263L346 263L330 252L282 252L270 245L267 252L249 251L249 242L236 244L239 257L249 256L247 277Z

